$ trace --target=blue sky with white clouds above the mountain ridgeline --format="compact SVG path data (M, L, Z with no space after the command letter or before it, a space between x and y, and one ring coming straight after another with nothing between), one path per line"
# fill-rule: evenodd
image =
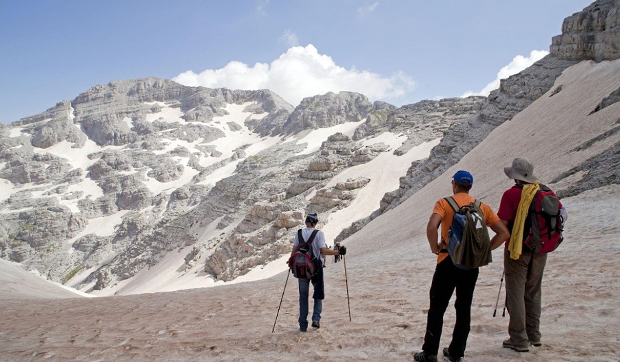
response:
M590 3L0 0L0 122L145 76L270 88L293 106L341 90L396 106L485 94Z

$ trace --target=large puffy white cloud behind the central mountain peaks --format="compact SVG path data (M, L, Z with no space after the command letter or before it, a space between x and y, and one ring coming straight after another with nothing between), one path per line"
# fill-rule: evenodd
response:
M201 73L185 71L172 78L187 86L229 89L271 89L285 101L297 106L304 97L329 91L352 91L364 94L371 101L402 97L415 88L415 82L399 72L386 78L378 73L345 69L328 55L319 54L314 45L292 47L270 64L248 66L231 61L224 68Z

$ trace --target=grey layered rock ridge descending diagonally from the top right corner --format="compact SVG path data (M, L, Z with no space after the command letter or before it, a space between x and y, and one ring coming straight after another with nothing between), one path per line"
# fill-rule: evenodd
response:
M379 208L365 219L354 222L336 238L343 240L359 231L368 222L393 209L427 183L456 164L467 152L497 127L510 120L553 86L556 78L571 65L582 60L615 60L620 57L620 1L598 0L583 11L567 17L562 34L552 38L550 54L518 75L500 81L500 88L492 91L480 104L480 112L446 133L427 160L412 165L401 178L401 186L387 193ZM561 86L554 92L561 91ZM618 92L601 99L600 106L618 102ZM589 166L593 166L593 162ZM600 164L599 164L600 165ZM583 167L586 167L584 165ZM609 174L609 169L601 170ZM615 172L615 171L612 171ZM584 188L585 191L590 188Z

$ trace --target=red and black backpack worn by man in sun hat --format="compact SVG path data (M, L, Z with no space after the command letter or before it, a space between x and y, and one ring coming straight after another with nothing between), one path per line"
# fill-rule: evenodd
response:
M523 188L522 184L517 186ZM523 227L523 243L535 253L550 253L564 240L562 231L560 200L550 188L540 184L529 204Z

